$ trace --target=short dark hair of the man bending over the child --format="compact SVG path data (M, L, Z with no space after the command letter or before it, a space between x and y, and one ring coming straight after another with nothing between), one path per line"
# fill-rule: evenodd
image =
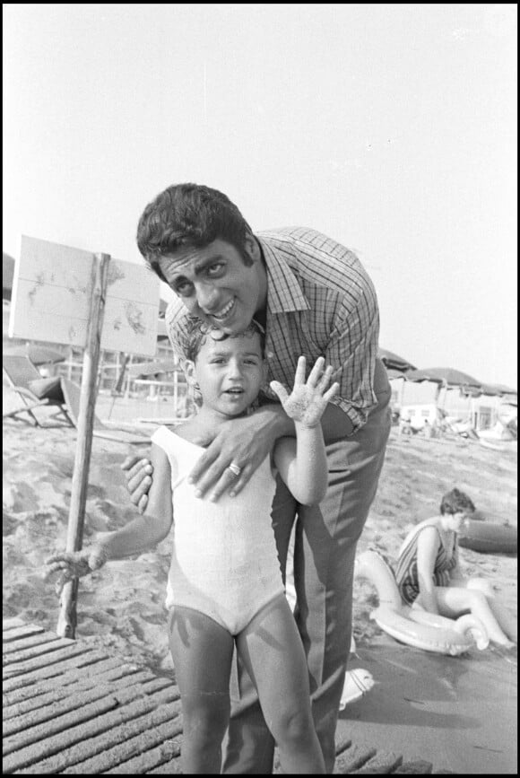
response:
M166 283L160 258L171 256L181 246L203 248L218 238L234 246L244 263L251 265L244 243L252 234L229 197L218 189L186 183L166 188L146 205L136 238L146 264Z

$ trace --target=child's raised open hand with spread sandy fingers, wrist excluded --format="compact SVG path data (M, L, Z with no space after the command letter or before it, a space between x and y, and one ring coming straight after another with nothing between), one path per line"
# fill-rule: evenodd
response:
M327 389L334 368L328 365L324 372L325 359L320 356L305 380L305 357L300 356L296 373L294 376L294 386L291 393L277 381L271 381L271 389L278 395L285 413L296 423L303 424L306 427L316 427L325 407L331 398L338 393L340 385L337 382Z

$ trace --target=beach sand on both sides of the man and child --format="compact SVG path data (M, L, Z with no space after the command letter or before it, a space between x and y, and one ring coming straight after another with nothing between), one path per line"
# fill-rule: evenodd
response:
M4 421L3 614L50 630L58 602L44 560L65 547L75 443L70 427ZM93 440L85 544L135 515L120 469L129 451ZM516 474L516 444L491 450L478 441L400 437L394 428L359 552L373 547L395 560L408 530L437 513L454 486L489 520L516 527ZM167 538L82 579L76 637L173 676L163 607L170 547ZM461 549L461 557L464 573L490 578L516 613L516 554ZM377 603L372 585L356 580L351 668L370 670L376 686L340 714L339 730L354 743L426 759L436 771L516 774L516 652L475 648L453 658L397 643L370 619Z

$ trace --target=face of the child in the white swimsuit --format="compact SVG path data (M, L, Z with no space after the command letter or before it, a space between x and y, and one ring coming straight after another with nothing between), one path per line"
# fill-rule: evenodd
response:
M260 336L247 333L213 340L210 334L192 369L204 406L223 415L241 415L256 399L265 380Z

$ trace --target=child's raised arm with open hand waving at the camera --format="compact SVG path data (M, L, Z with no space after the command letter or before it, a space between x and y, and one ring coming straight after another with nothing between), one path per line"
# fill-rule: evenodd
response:
M325 496L328 465L320 419L328 401L339 390L339 384L327 387L333 372L319 357L305 381L305 357L300 356L294 387L290 395L278 381L271 388L280 398L285 413L294 421L296 439L280 438L273 452L274 464L282 480L299 503L312 505Z

